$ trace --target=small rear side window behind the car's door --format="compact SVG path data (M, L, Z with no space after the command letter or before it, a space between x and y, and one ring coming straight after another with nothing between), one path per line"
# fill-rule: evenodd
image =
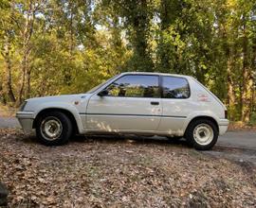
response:
M163 98L188 98L191 94L186 78L163 77Z

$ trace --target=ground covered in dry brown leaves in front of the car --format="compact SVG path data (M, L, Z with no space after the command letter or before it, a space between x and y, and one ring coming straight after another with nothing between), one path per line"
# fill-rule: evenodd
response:
M77 138L39 145L0 130L9 207L255 207L256 168L168 140Z

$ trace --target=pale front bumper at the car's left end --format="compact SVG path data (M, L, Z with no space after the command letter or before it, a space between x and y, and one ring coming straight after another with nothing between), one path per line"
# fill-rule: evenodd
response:
M16 113L16 117L18 118L23 130L29 131L33 129L33 112L18 112Z

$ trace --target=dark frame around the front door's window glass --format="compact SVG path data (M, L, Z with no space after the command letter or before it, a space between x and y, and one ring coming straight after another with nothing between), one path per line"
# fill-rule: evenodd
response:
M105 96L107 96L107 97L127 97L127 98L146 98L146 99L159 99L159 98L162 98L162 90L161 90L161 85L160 85L160 80L161 80L161 78L160 78L160 76L159 75L149 75L149 74L145 74L145 75L143 75L143 74L125 74L125 75L122 75L122 76L120 76L119 78L117 78L117 79L115 79L115 80L113 80L111 83L109 83L108 85L106 85L102 90L106 90L111 84L113 84L114 82L116 82L116 81L118 81L120 78L123 78L123 77L125 77L125 76L151 76L151 77L157 77L158 78L158 82L157 82L157 84L158 84L158 96L157 97L144 97L144 96L114 96L114 95L105 95Z

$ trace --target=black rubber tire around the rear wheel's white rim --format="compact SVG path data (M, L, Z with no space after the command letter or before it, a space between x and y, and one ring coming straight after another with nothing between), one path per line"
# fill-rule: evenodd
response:
M196 138L194 138L193 132L194 130L199 127L199 125L206 125L207 127L210 127L213 133L212 139L210 139L209 143L206 145L202 145L197 142ZM211 149L217 142L219 136L219 130L217 126L210 120L208 119L198 119L192 121L192 123L188 126L186 132L185 132L185 138L188 142L188 144L191 147L194 147L195 149L198 150L209 150Z

